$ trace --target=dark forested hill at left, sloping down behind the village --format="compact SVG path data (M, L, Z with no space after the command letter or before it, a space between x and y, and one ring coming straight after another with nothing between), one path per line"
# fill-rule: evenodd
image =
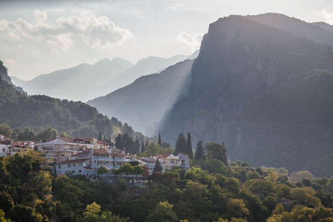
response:
M1 63L2 68L5 67ZM45 95L27 96L4 81L2 76L6 79L7 72L0 76L0 123L5 122L13 129L30 127L40 131L52 126L74 137L96 137L101 132L107 137L128 133L132 138L144 139L128 124L122 124L116 118L109 119L85 103Z

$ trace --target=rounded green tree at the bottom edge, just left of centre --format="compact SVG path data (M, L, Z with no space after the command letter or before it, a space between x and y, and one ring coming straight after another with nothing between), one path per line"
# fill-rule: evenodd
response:
M172 210L173 205L166 202L160 202L155 210L147 217L147 222L178 222L176 213Z

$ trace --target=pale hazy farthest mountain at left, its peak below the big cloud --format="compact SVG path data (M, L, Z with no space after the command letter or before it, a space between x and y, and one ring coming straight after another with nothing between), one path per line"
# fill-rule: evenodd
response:
M114 58L110 61L106 58L94 65L81 64L70 69L38 75L29 81L15 79L15 83L30 95L45 94L86 101L110 92L107 85L101 85L132 67L133 64L127 60Z

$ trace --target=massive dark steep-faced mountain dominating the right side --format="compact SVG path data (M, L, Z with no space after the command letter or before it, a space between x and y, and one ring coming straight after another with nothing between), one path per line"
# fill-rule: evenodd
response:
M310 27L300 37L253 18L210 24L187 96L167 112L161 135L175 141L190 132L193 142L224 141L234 160L332 175L333 46L304 37L311 28L328 32L309 23L297 29L300 20L292 19L298 33Z

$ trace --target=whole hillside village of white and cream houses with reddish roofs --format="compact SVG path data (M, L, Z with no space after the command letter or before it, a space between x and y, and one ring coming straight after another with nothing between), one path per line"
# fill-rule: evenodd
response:
M113 143L112 143L113 144ZM84 175L92 177L98 174L98 168L113 174L124 163L140 165L146 170L145 176L153 173L156 162L162 166L162 172L181 167L189 169L189 155L183 153L156 154L142 156L115 148L114 145L97 140L96 138L66 138L57 135L56 138L44 141L17 141L0 135L0 155L24 155L29 150L38 150L47 162L53 174ZM147 173L148 171L148 173ZM143 173L141 173L143 174Z

